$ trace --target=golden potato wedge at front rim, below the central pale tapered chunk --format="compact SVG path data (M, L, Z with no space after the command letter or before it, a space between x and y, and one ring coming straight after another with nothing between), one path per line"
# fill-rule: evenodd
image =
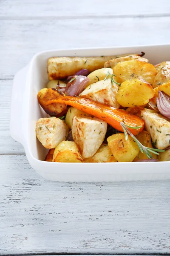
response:
M84 160L84 163L112 163L117 162L115 157L107 144L103 144L99 147L96 154L93 157Z

